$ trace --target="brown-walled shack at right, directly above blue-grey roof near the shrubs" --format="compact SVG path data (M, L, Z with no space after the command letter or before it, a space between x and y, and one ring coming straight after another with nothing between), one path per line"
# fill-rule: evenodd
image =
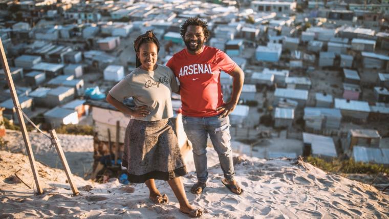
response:
M381 136L374 129L351 129L347 135L347 141L343 144L343 150L353 150L353 147L365 146L375 147L380 146Z

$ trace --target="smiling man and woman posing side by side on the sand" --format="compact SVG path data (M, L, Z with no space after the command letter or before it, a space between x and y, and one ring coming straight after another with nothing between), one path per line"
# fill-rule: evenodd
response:
M145 183L150 200L156 204L167 204L168 197L161 195L154 179L167 181L179 201L180 211L199 217L203 212L189 204L180 178L187 171L169 120L173 116L171 92L181 94L184 130L193 147L198 182L191 192L200 194L206 187L209 135L224 172L222 183L231 192L241 194L243 189L234 180L228 114L239 100L244 73L224 52L204 46L209 31L203 20L187 19L180 32L186 48L167 62L169 68L157 64L160 45L155 35L151 31L140 35L134 42L137 69L116 84L106 100L134 117L126 128L124 140L122 165L128 169L128 180ZM223 102L221 71L233 77L228 103ZM135 109L122 103L128 97L134 98Z

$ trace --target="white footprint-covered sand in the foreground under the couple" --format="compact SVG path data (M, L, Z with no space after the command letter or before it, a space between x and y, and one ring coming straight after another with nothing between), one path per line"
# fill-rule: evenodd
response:
M185 157L192 171L191 152ZM389 195L373 186L327 174L307 163L241 158L245 161L236 164L235 171L245 190L242 195L232 194L221 183L222 170L212 148L208 148L212 167L204 193L189 192L196 182L195 172L183 178L189 202L207 212L202 218L389 218ZM125 186L117 179L97 184L75 177L79 188L93 189L80 189L81 195L72 196L64 172L41 164L38 172L45 194L34 195L24 184L5 181L18 169L18 176L33 187L28 158L0 151L0 218L186 218L164 181L157 181L157 187L170 203L154 205L144 184Z

